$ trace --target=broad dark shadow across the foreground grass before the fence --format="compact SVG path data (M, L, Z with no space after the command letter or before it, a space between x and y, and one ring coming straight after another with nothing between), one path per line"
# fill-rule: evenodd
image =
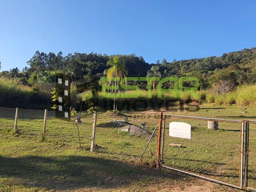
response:
M182 179L180 174L160 172L117 160L86 156L8 158L0 156L0 177L15 178L11 185L72 190L79 188L118 188L134 182L161 182Z

